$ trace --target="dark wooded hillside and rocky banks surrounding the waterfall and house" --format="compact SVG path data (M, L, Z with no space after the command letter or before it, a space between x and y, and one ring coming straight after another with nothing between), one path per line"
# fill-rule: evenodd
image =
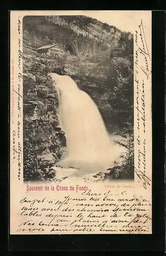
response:
M50 42L66 52L36 52ZM52 166L66 153L50 72L72 77L98 105L109 134L121 136L115 143L126 153L104 179L133 179L133 35L86 16L26 16L23 54L29 55L23 59L24 179L51 181Z

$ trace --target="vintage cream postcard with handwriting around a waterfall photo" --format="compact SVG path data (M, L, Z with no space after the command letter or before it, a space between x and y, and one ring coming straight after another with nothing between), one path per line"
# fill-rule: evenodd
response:
M152 233L151 29L10 12L10 234Z

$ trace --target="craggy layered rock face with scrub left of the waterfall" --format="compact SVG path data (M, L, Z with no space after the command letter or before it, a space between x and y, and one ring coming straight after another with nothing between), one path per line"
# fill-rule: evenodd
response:
M50 179L53 172L49 169L61 159L66 146L65 134L58 127L55 86L40 61L33 63L23 60L23 170L27 181Z

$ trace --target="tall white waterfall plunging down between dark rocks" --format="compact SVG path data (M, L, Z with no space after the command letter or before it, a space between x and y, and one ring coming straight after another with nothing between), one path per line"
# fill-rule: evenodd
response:
M106 170L114 151L97 105L69 76L51 76L58 90L59 123L68 151L57 165L76 168L79 176Z

